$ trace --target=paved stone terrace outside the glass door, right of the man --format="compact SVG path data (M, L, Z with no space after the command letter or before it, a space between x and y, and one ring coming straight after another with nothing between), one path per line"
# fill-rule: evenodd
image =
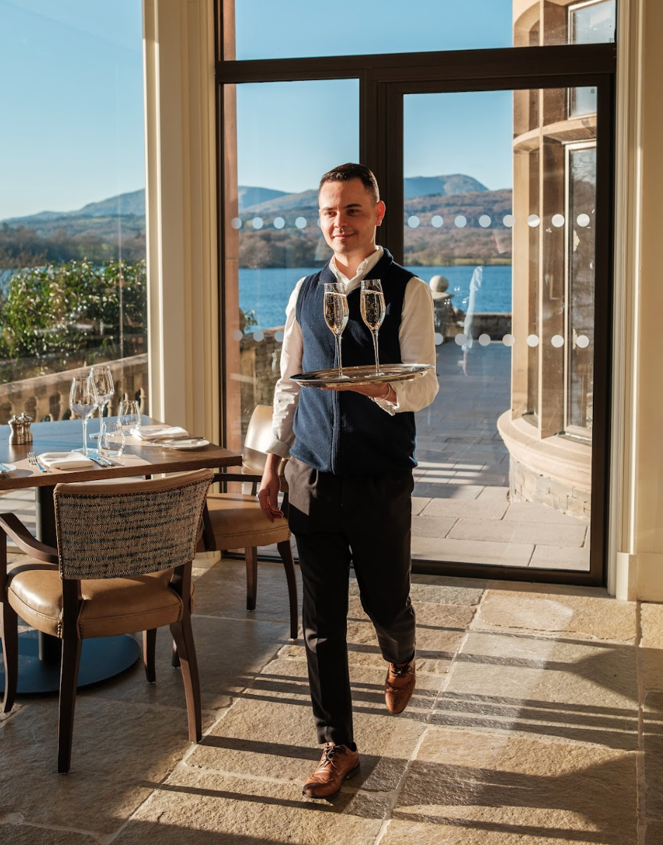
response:
M438 347L439 393L417 415L412 558L589 570L589 520L509 502L497 420L510 403L509 348Z

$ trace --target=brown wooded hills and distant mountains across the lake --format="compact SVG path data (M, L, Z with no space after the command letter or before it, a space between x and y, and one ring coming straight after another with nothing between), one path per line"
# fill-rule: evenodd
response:
M493 228L504 228L502 219L511 210L511 191L489 191L470 176L408 177L404 180L405 220L417 215L418 228L406 228L407 260L413 264L444 264L462 259L490 259L497 252ZM89 203L76 211L42 211L39 214L0 221L0 268L35 266L46 262L88 258L93 261L121 257L128 261L145 257L144 190ZM317 221L315 188L294 194L272 188L240 186L238 191L240 265L245 267L306 266L326 259L329 249ZM481 215L495 223L478 224ZM433 215L445 225L430 225ZM457 215L467 226L453 226ZM254 228L256 217L262 228ZM274 228L283 217L283 228ZM295 226L303 217L305 229ZM405 221L404 221L405 222ZM121 250L120 250L121 244ZM501 258L510 258L501 254ZM445 259L445 260L442 260Z

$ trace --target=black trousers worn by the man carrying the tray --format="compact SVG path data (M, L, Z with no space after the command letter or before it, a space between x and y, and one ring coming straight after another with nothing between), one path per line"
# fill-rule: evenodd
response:
M410 602L412 471L335 476L291 458L288 522L304 585L302 617L318 740L353 742L348 672L348 581L352 562L382 657L414 652Z

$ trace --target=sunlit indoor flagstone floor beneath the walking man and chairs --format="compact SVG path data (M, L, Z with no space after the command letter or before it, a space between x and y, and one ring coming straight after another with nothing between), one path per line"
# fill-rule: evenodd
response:
M418 689L393 717L353 581L362 767L315 802L300 793L320 751L282 568L260 564L253 613L242 562L196 575L202 742L187 742L163 632L156 684L136 665L79 692L67 776L57 696L22 696L0 722L3 845L663 842L663 606L415 575Z

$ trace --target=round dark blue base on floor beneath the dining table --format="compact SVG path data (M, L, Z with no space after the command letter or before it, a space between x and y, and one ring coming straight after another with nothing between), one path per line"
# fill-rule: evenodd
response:
M61 645L59 640L56 641ZM19 694L57 692L60 661L40 660L39 635L35 630L19 635ZM124 672L137 661L141 647L132 636L107 636L84 640L78 669L78 688L98 684ZM4 667L0 661L0 690L4 690Z

